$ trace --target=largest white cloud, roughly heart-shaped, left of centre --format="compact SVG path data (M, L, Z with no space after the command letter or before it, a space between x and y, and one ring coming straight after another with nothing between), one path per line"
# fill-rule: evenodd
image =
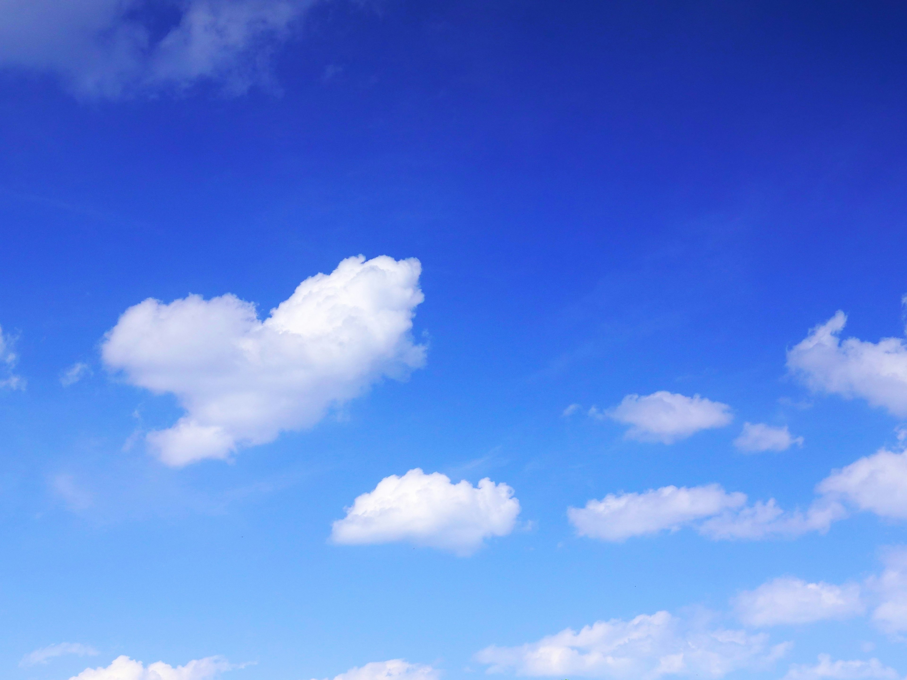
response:
M186 415L148 442L169 465L227 458L317 423L383 376L424 364L411 337L423 300L416 259L349 257L309 277L264 321L236 296L148 299L106 335L104 363L173 393Z

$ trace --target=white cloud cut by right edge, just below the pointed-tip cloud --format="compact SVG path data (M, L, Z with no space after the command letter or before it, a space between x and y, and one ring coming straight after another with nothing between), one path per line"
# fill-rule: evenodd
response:
M833 471L816 491L880 517L907 520L907 452L881 449Z

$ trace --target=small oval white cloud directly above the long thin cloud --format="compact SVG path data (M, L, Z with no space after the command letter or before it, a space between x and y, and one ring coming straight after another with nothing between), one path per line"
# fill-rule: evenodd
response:
M732 420L727 403L712 402L698 394L688 397L665 391L648 396L628 394L607 414L631 426L627 431L630 439L666 444L700 430L724 427Z

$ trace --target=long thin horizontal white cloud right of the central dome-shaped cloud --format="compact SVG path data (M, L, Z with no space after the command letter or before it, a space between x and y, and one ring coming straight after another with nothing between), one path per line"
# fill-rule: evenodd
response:
M746 505L746 494L717 484L666 486L643 493L609 494L567 510L580 536L619 541L685 526L710 539L769 539L827 531L846 516L840 503L819 498L805 511L785 511L775 499Z

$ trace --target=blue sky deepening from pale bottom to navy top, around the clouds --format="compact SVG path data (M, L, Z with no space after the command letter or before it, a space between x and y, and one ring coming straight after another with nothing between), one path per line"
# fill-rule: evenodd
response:
M877 571L904 532L869 516L612 545L573 537L565 510L713 481L805 507L895 441L888 414L787 377L785 349L837 309L845 335L902 335L905 25L893 2L328 2L242 96L86 101L2 73L0 325L28 386L0 393L0 675L122 653L258 662L237 680L394 657L459 678L492 643ZM128 306L230 292L267 313L359 253L421 260L424 369L232 464L123 451L180 413L100 364ZM63 388L77 361L93 375ZM561 416L659 389L736 422L665 447ZM745 420L805 447L741 455ZM416 466L509 483L531 524L471 559L327 544L356 495ZM61 474L85 507L54 493ZM872 640L907 671L863 620L772 636L800 663ZM16 667L63 640L102 656Z

